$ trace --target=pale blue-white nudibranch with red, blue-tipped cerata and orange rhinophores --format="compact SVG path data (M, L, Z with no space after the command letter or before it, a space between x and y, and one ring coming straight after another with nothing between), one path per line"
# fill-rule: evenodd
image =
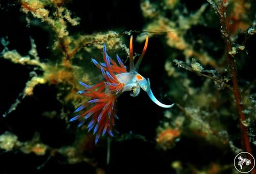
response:
M133 36L130 38L130 71L127 72L123 62L116 55L118 64L106 52L106 45L103 45L103 60L104 63L99 63L95 59L92 62L101 70L103 81L95 85L87 85L79 82L85 89L78 91L78 94L89 97L90 100L79 106L75 113L78 113L70 121L80 120L78 127L87 123L88 132L93 129L93 134L96 135L95 143L98 142L100 136L108 133L113 134L113 126L115 119L118 119L115 111L115 101L117 97L125 91L132 91L131 96L136 97L140 93L140 89L145 91L153 102L165 108L174 106L173 104L166 105L161 103L153 95L150 88L150 79L147 80L138 73L138 69L142 58L146 52L148 36L146 36L143 51L134 64L133 57Z

